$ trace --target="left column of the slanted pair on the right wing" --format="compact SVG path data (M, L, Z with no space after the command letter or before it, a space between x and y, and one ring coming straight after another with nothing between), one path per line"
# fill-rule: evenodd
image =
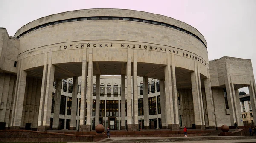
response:
M236 121L236 113L235 113L235 107L234 107L234 101L233 101L230 75L225 76L225 86L226 86L226 92L227 92L227 102L228 102L228 107L230 112L230 123L231 123L231 126L234 126L235 122L237 121Z

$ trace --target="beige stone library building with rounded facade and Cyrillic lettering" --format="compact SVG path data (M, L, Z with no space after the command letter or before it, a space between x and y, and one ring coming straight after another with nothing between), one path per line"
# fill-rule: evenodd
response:
M209 61L204 36L170 17L68 11L29 22L14 37L0 28L0 37L1 129L242 125L241 87L255 112L251 61Z

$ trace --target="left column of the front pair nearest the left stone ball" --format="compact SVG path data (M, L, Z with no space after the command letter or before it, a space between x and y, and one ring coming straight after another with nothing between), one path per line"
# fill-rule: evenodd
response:
M85 115L86 115L86 86L87 86L87 60L86 48L83 48L83 62L82 62L82 85L81 85L81 107L80 107L80 128L79 131L86 131Z

